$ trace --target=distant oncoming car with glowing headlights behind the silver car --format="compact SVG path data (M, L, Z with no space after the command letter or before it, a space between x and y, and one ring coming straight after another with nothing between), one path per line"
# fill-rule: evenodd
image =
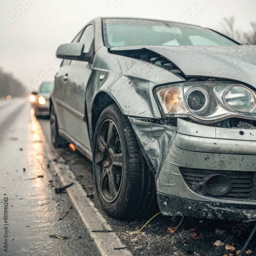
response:
M30 95L30 101L33 103L35 116L50 116L50 94L53 90L54 82L42 82L39 92L33 92Z

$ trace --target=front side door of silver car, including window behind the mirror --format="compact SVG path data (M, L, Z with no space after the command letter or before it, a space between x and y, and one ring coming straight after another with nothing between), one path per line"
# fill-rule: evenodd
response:
M89 24L82 32L79 39L84 44L84 52L93 49L94 26ZM87 83L91 76L92 63L88 61L71 60L63 75L63 90L65 95L62 100L63 119L68 135L82 146L91 151L88 126L85 115L85 93Z

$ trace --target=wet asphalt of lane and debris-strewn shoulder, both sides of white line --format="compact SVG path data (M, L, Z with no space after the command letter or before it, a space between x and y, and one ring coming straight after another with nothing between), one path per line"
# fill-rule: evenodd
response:
M38 123L32 122L30 118L29 104L24 103L22 99L14 99L12 105L10 102L0 101L0 162L2 164L0 199L8 196L9 200L8 251L10 253L7 255L100 255L75 208L72 208L62 221L58 221L61 214L72 203L68 194L56 195L52 190L52 183L58 185L59 179L47 167L49 159L45 159L42 154L44 145L36 129ZM11 117L8 118L8 116ZM38 121L49 142L49 120L39 119ZM19 150L20 147L23 148L22 151ZM225 244L233 243L236 249L241 249L253 227L252 224L246 223L185 217L176 232L172 234L168 231L168 227L176 227L181 218L159 215L140 234L137 234L142 225L152 216L131 220L109 217L101 209L95 195L91 162L78 152L71 152L69 148L60 150L51 148L51 154L55 159L59 157L65 159L66 164L87 194L91 195L92 202L111 225L112 230L135 256L223 255L228 251L224 247L213 246L216 240L221 240ZM25 172L23 167L26 168ZM25 180L25 177L28 179L38 175L44 175L44 178ZM4 196L4 194L7 195ZM2 201L0 212L4 209ZM55 206L57 203L60 205ZM1 221L2 218L0 216ZM1 221L2 226L3 221ZM189 231L191 228L196 231ZM225 232L219 234L216 233L216 229ZM194 232L200 239L193 239ZM4 249L2 246L4 231L2 233L0 233L0 255ZM69 239L49 238L50 233L67 236ZM248 247L253 251L250 255L256 255L255 240L254 237ZM120 255L122 255L121 250Z

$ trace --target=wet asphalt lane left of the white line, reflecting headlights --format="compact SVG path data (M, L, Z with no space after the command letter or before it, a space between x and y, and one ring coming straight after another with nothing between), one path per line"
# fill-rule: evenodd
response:
M26 99L0 100L0 255L99 255L74 207L59 220L72 203L52 189L49 180L58 184L58 177L47 167L38 125Z

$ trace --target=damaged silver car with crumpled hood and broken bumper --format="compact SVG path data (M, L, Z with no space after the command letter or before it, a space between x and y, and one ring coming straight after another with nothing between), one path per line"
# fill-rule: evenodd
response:
M109 215L158 205L256 219L255 46L187 24L96 18L57 57L52 143L93 161Z

